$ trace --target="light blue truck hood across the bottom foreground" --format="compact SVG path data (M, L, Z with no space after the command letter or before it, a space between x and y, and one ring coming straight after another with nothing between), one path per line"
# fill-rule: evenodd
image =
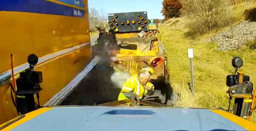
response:
M95 106L49 108L51 109L18 124L16 127L12 128L11 131L247 130L239 125L238 122L233 122L210 109ZM225 111L218 111L226 113ZM30 115L31 113L33 112L30 112ZM26 117L22 119L25 118ZM239 117L237 117L237 120L242 122L246 121Z

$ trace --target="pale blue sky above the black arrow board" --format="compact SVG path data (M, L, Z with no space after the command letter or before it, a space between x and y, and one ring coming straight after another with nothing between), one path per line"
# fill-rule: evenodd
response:
M163 19L163 0L88 0L88 7L103 9L106 13L147 11L148 19Z

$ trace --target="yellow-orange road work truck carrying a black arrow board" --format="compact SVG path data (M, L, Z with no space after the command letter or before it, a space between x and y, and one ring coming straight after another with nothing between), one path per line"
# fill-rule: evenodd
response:
M129 76L151 67L155 72L151 76L155 91L144 99L173 105L163 33L149 23L147 12L108 14L108 25L108 34L112 34L111 39L115 39L117 45L116 50L110 51L114 57L110 59L110 66L119 74L113 74L112 81L120 87Z

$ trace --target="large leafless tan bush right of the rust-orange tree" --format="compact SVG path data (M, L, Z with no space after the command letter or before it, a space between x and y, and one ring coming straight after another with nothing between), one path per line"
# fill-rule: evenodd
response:
M226 0L183 0L183 14L191 33L202 34L223 26Z

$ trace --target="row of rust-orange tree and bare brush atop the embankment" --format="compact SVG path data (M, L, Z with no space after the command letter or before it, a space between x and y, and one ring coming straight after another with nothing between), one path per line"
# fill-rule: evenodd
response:
M256 0L163 0L161 13L165 20L186 17L191 34L204 34L226 26L233 31L232 25L239 18L232 15L230 6L252 1Z

